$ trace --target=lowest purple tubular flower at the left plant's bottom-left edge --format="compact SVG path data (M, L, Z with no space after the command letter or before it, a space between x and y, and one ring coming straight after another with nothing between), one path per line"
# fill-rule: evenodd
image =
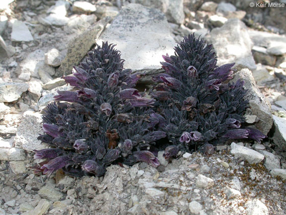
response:
M71 159L68 156L60 156L50 160L48 163L44 164L41 167L41 170L44 170L44 174L48 174L48 177L58 169L65 167L68 164L68 161Z

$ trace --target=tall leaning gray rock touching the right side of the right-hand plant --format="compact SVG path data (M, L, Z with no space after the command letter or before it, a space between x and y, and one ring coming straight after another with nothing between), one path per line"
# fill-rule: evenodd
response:
M238 79L244 81L244 87L248 90L246 99L249 100L252 115L257 115L258 122L255 123L255 128L267 135L272 127L270 103L257 88L251 71L248 69L242 69L241 71L235 73L232 81L235 83Z

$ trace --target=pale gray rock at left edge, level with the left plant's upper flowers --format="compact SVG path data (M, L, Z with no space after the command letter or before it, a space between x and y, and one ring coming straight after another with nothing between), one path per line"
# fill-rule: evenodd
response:
M26 92L29 85L25 83L2 83L0 84L0 102L13 102Z

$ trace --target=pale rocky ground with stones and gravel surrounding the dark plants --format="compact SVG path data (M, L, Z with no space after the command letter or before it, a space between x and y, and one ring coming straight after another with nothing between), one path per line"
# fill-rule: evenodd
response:
M0 215L286 214L285 7L229 2L1 0ZM60 77L94 42L118 44L148 87L161 55L189 33L214 44L219 65L236 63L234 80L249 90L247 123L267 139L169 163L159 152L157 169L112 165L101 178L33 173L33 150L46 147L37 140L41 110L70 89Z

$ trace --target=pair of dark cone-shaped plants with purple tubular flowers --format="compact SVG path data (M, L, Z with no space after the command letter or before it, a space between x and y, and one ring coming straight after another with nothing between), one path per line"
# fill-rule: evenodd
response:
M184 38L175 56L163 57L165 73L153 77L152 99L135 88L141 75L123 68L114 46L97 45L63 77L74 88L58 92L45 109L38 139L50 148L36 151L35 159L46 159L36 172L103 176L112 163L158 167L158 150L165 159L194 146L212 154L229 139L265 137L242 127L246 90L242 81L226 83L233 64L217 67L212 45Z

